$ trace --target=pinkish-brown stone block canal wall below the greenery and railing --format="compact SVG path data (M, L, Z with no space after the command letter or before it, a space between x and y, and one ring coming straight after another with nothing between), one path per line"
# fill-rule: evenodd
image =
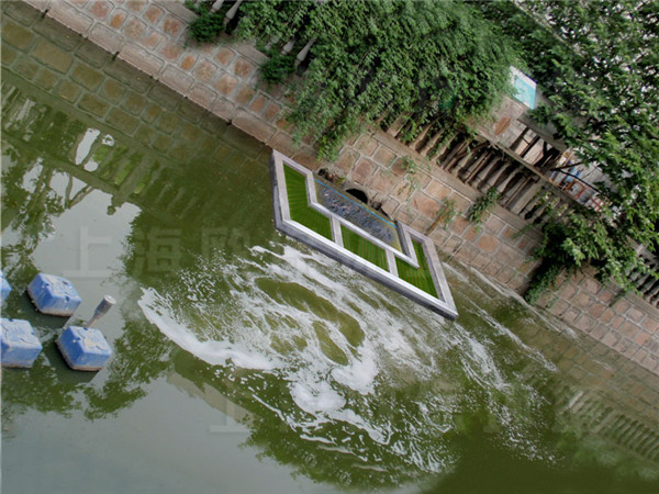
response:
M314 170L325 167L345 177L372 201L381 202L393 218L427 233L447 256L517 292L528 283L528 274L536 265L527 258L541 238L536 229L525 229L526 222L499 206L482 228L470 225L466 211L480 193L437 167L407 172L404 157L418 164L424 162L423 158L381 131L370 130L346 144L335 162L320 162L308 142L293 144L290 124L284 119L283 89L267 88L258 81L258 65L265 55L245 43L200 46L189 41L187 24L194 14L182 2L23 0L10 3L5 12L15 22L3 20L3 37L12 49L34 50L55 77L78 71L75 78L79 86L60 88L63 97L82 98L80 91L89 90L90 85L96 90L101 81L91 80L93 77L86 76L83 68L71 67L66 40L32 44L30 25L35 12L25 3L302 165ZM72 33L71 36L75 37ZM8 57L15 58L9 49L7 53ZM3 63L4 59L3 53ZM20 64L20 60L12 63ZM103 104L93 98L88 103L87 111L92 113L100 111ZM124 113L118 111L118 125L133 122L132 115ZM457 216L448 225L436 224L438 214L449 204ZM592 277L580 274L566 282L557 294L543 297L540 304L560 319L659 374L659 311L633 295L618 300L618 292L617 288L602 287Z

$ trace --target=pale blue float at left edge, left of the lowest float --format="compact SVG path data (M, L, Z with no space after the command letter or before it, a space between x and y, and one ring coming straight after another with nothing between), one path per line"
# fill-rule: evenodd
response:
M0 326L2 367L32 367L43 348L32 325L27 321L3 317Z

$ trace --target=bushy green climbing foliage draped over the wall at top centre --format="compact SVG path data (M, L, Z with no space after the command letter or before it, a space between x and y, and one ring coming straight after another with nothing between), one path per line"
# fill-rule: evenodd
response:
M209 4L196 11L193 37L226 30ZM431 122L457 127L485 115L509 87L513 52L461 0L260 0L243 3L239 15L233 34L271 55L313 42L288 120L298 138L315 139L321 158L332 159L365 123L404 116L407 141Z

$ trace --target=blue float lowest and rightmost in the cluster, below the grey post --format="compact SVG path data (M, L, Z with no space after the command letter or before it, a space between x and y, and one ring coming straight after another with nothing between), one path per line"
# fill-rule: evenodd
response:
M112 355L100 330L80 326L67 327L57 338L57 347L75 370L98 371Z

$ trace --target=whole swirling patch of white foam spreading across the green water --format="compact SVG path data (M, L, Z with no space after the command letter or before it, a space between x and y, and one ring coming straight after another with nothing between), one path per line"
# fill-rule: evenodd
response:
M446 470L450 459L429 456L427 445L444 451L451 407L459 408L451 393L460 383L449 378L436 393L423 395L429 400L425 407L411 409L410 403L396 404L395 394L380 395L381 386L389 392L443 381L448 352L456 350L458 361L449 366L467 379L502 393L510 384L478 335L304 247L258 246L233 258L216 252L179 279L176 287L144 290L139 306L148 321L205 362L260 370L287 382L290 409L279 409L259 389L250 392L291 429L328 446L346 447L323 433L325 425L344 424L405 463ZM388 408L404 415L404 430L396 429ZM516 437L513 429L510 436ZM369 460L360 448L353 445L347 452Z

